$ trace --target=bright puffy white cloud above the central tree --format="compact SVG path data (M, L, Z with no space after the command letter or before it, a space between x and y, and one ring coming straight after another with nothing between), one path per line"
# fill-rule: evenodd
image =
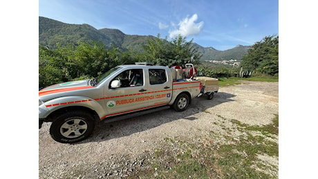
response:
M204 22L200 21L199 23L195 23L194 21L196 21L197 19L197 14L193 14L190 18L186 17L185 19L183 19L183 21L180 21L180 23L178 23L179 29L169 31L169 37L174 38L179 34L182 36L199 34L203 28Z

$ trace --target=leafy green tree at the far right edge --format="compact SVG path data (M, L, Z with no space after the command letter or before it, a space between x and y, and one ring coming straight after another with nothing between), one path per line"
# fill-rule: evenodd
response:
M275 75L279 73L279 36L265 36L242 57L244 71Z

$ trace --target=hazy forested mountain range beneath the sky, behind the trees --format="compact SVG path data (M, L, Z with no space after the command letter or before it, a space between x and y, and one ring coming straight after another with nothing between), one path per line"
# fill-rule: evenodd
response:
M141 36L124 34L118 29L102 28L97 30L88 24L69 24L48 19L46 17L39 17L39 45L55 48L56 44L67 45L77 44L78 41L87 43L99 41L106 45L106 48L111 48L112 45L121 48L122 50L134 50L142 52L142 45L146 45L149 39L155 39L156 36ZM223 61L236 59L241 61L244 54L251 46L236 45L230 50L216 50L212 47L202 47L194 43L198 52L203 56L201 61Z

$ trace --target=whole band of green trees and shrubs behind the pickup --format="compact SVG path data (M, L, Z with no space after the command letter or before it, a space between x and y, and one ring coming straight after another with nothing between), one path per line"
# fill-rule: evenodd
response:
M192 39L193 40L193 39ZM243 56L240 67L213 65L200 63L202 54L185 37L178 36L171 41L156 39L147 41L144 52L123 52L114 45L111 49L103 43L78 42L77 45L59 45L50 49L39 45L39 88L74 81L83 78L93 78L122 64L133 64L137 61L150 61L156 65L183 65L194 63L200 72L210 77L241 76L245 74L278 76L279 62L278 36L265 36L265 38L252 45L247 54Z

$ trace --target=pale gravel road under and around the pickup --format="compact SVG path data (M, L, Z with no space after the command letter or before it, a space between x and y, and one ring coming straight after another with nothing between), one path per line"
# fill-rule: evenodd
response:
M57 143L48 133L50 123L39 129L39 178L125 178L148 169L164 138L183 140L204 136L207 131L225 134L230 120L247 125L267 125L279 114L279 85L241 81L220 87L212 101L195 98L185 112L166 109L113 123L100 123L90 138L73 145ZM223 121L223 126L218 125ZM241 135L233 130L233 138ZM223 140L218 138L217 140ZM219 141L225 143L225 141ZM278 143L278 137L277 137ZM278 166L278 158L260 156ZM270 171L269 171L270 172ZM278 175L278 171L272 171Z

